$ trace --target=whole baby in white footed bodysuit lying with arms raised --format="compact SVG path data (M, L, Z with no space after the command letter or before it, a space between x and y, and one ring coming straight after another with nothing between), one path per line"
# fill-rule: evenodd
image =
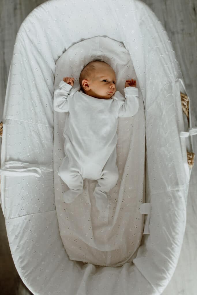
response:
M89 62L79 76L80 87L73 89L74 78L64 77L54 91L53 108L69 112L69 127L64 128L63 159L58 175L69 190L63 195L71 203L83 192L83 180L97 180L94 197L98 210L108 206L107 193L118 181L116 144L118 117L132 117L139 109L136 80L126 80L126 98L116 91L113 68L100 60Z

